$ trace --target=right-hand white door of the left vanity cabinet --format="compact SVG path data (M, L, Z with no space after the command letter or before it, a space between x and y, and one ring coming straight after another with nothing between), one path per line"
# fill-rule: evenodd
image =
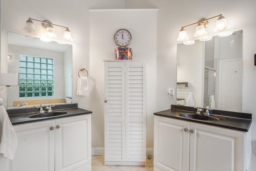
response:
M91 170L91 115L55 120L55 171Z

